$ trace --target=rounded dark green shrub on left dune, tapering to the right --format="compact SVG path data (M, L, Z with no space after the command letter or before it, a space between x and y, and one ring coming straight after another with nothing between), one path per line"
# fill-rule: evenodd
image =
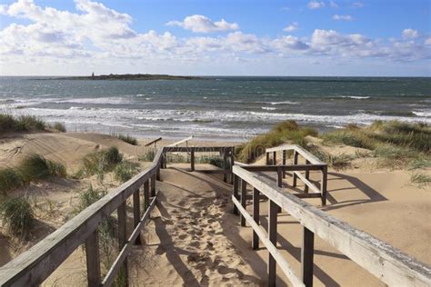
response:
M18 167L25 183L44 179L50 175L65 177L65 165L46 160L39 154L31 154Z

